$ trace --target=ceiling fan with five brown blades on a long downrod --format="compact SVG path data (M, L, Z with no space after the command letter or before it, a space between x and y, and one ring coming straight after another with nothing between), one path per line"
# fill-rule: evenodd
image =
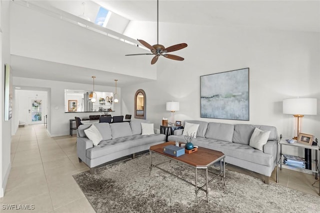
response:
M172 59L172 60L178 60L178 61L183 61L184 58L177 56L177 55L172 55L172 54L167 54L167 52L173 52L179 49L183 49L184 47L187 46L186 43L179 43L175 44L172 46L169 46L165 48L163 45L159 44L159 0L156 0L156 44L150 45L146 41L138 39L138 41L145 46L146 48L151 50L151 53L140 53L140 54L127 54L125 56L129 55L154 55L154 57L151 60L151 64L154 64L160 55Z

